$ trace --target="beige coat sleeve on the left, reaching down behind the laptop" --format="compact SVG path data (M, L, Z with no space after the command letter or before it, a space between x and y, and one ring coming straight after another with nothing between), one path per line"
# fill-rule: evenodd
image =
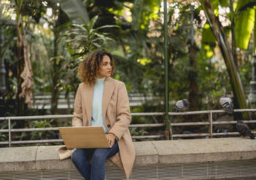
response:
M74 117L72 118L72 126L82 126L82 96L81 84L78 86L77 94L74 99Z

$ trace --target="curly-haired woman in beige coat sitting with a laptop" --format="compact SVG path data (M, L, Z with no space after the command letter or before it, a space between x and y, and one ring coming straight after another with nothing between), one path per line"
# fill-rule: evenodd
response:
M76 149L71 160L85 179L105 178L105 160L112 160L131 174L135 152L128 125L131 112L125 83L111 78L115 69L112 55L92 52L78 68L82 83L74 101L72 126L102 126L110 148ZM93 151L91 165L88 155Z

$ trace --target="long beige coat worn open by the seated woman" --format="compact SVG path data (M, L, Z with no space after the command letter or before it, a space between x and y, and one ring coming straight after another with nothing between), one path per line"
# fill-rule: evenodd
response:
M80 83L74 100L74 118L72 126L90 126L93 105L93 86ZM125 171L127 179L131 174L135 159L135 150L128 125L131 112L125 83L106 78L102 99L104 124L109 133L115 134L119 141L120 152L110 160ZM59 151L59 153L62 153ZM60 156L61 157L61 156Z

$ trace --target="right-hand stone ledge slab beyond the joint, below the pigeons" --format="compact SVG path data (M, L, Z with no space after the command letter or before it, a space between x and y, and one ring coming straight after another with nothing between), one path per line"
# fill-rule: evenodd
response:
M158 163L198 163L256 159L256 140L244 138L184 139L152 142Z

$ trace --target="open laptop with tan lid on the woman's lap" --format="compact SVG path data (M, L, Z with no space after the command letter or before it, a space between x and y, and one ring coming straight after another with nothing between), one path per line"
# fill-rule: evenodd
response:
M58 131L67 149L109 148L101 126L60 127Z

